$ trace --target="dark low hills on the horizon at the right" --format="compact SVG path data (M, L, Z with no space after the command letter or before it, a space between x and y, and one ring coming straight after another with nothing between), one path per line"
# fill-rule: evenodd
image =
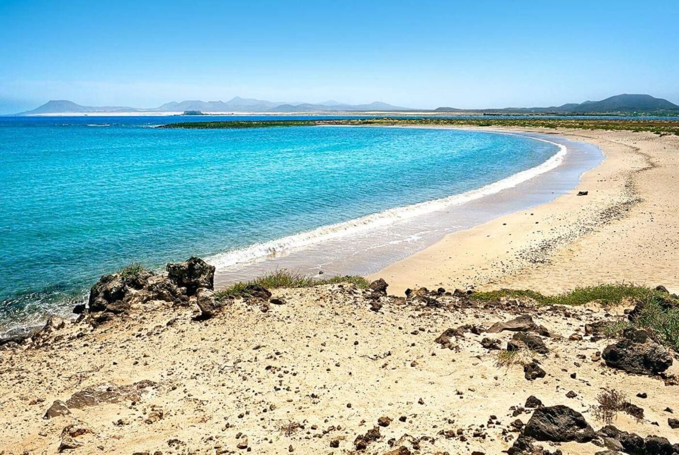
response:
M439 107L436 112L470 112L466 109ZM570 102L549 107L507 107L498 109L475 109L479 113L563 113L563 114L604 114L604 113L679 113L679 106L663 98L650 95L622 94L601 101Z

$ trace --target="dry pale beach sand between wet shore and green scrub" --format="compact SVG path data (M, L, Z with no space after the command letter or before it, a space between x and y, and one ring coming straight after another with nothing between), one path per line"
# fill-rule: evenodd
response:
M369 278L399 293L414 285L557 293L611 282L679 292L679 136L553 134L596 144L606 159L568 194L449 234Z

